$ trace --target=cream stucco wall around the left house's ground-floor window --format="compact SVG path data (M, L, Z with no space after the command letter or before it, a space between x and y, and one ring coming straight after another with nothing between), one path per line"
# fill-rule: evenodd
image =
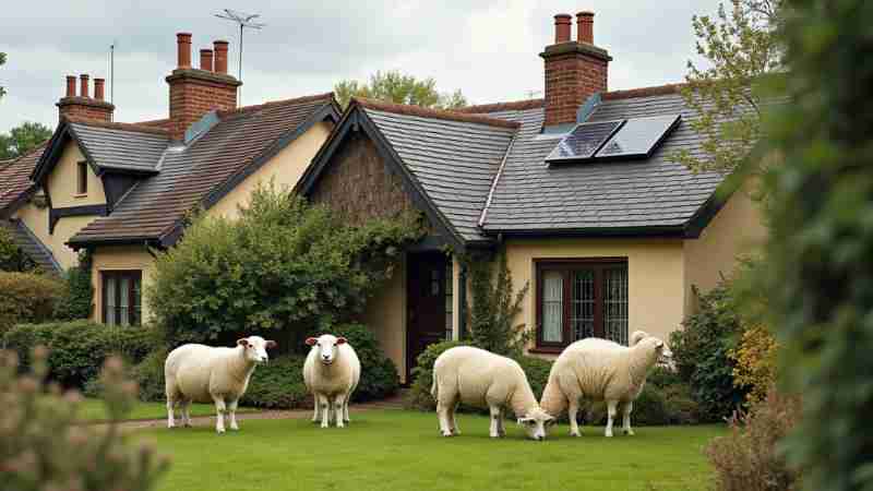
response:
M112 246L100 247L94 250L92 261L91 282L94 287L94 312L92 319L103 322L103 282L100 273L104 271L142 271L142 319L147 323L151 318L148 299L145 296L146 286L152 280L151 272L155 259L142 246Z

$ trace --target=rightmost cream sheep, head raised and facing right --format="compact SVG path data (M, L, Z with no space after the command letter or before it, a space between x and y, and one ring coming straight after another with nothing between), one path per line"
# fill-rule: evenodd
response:
M631 347L607 339L581 339L567 346L552 364L540 406L550 415L567 409L571 435L581 435L576 414L583 397L607 403L607 436L612 436L617 406L622 403L622 429L629 435L634 434L633 402L643 391L649 370L669 350L661 339L641 331L631 339Z

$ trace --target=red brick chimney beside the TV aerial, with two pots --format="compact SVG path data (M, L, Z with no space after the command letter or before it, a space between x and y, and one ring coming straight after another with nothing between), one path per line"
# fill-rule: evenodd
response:
M191 34L176 35L178 67L167 76L170 86L170 137L184 140L188 128L213 109L237 107L237 87L242 82L227 74L227 41L215 41L215 57L201 50L201 68L191 65ZM214 71L213 71L214 60Z

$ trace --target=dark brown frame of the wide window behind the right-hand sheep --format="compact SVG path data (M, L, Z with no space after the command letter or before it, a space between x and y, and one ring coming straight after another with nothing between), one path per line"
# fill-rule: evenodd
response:
M571 272L579 270L594 270L594 334L596 337L606 336L606 302L603 291L603 272L614 267L624 267L627 271L627 258L572 258L572 259L536 259L535 284L536 284L536 345L534 351L539 352L561 352L571 344L572 338L572 279ZM561 338L562 342L546 342L542 324L543 318L543 273L555 271L561 274L563 280L562 304L561 304ZM627 288L630 289L630 275L627 276ZM630 298L627 299L630 304ZM629 326L630 330L630 326Z

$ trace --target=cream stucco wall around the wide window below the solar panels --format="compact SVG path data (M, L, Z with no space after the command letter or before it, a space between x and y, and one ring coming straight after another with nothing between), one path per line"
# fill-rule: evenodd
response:
M684 314L684 261L681 240L666 239L552 239L507 240L506 264L513 287L530 282L518 322L536 326L535 260L626 258L629 331L645 330L663 336L674 331Z

